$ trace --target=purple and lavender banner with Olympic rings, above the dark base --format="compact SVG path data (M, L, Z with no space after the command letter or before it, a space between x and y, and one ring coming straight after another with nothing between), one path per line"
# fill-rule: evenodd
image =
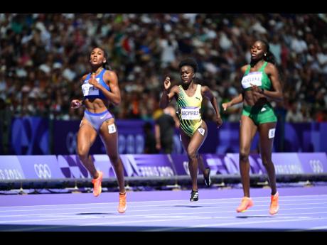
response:
M239 154L200 154L213 175L239 175ZM122 154L127 177L173 177L190 175L186 154ZM107 155L90 155L104 178L115 178ZM251 154L250 174L267 174L258 154ZM327 173L326 153L273 153L277 175ZM202 171L198 171L203 174ZM77 155L0 156L0 180L92 178Z

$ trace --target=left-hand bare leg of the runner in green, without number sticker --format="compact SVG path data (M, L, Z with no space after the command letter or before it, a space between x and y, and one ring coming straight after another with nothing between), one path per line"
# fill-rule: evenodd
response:
M250 197L250 162L249 154L252 139L257 132L257 126L249 116L241 116L240 125L240 175L245 197Z

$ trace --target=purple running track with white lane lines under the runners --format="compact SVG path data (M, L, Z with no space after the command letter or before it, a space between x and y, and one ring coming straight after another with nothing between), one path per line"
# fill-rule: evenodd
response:
M280 187L279 213L269 214L270 189L251 189L254 207L235 209L242 190L200 189L127 193L117 212L117 192L1 195L0 231L327 231L327 187Z

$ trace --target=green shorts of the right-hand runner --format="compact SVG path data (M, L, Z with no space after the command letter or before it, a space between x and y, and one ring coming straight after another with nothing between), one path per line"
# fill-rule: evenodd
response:
M277 121L271 104L264 104L263 107L243 106L242 115L249 116L255 125Z

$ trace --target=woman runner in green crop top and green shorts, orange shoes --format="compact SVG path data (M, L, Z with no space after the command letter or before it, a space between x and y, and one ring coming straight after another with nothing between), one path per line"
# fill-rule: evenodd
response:
M234 104L243 102L240 126L240 174L244 197L237 212L245 212L253 206L250 198L250 162L251 143L256 132L259 132L260 153L262 163L267 170L269 185L272 188L269 213L276 214L279 209L274 163L272 163L272 147L277 124L277 116L268 99L280 101L283 99L282 85L274 62L274 55L269 50L269 44L257 40L251 48L250 65L241 68L242 94L223 103L226 110Z

